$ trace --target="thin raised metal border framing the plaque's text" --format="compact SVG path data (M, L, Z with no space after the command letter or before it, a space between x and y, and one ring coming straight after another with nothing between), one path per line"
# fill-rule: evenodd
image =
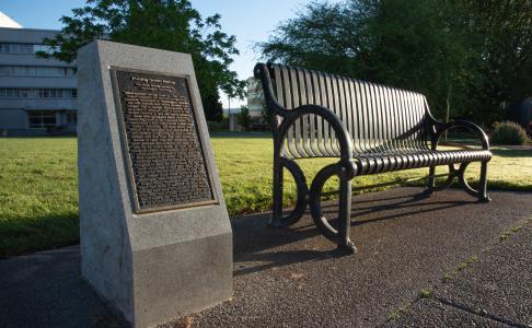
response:
M204 159L204 164L205 164L205 169L207 171L207 176L208 176L208 183L210 186L210 194L212 196L211 200L203 200L203 201L194 201L194 202L187 202L187 203L182 203L182 204L175 204L175 206L159 206L159 207L150 207L147 209L141 209L138 200L138 194L137 194L137 185L135 181L135 174L132 172L132 165L131 165L131 156L129 154L129 145L127 142L127 134L126 134L126 122L124 119L124 109L123 109L123 104L120 101L120 94L118 90L118 79L116 77L117 71L124 71L124 72L132 72L132 73L143 73L143 74L154 74L154 75L162 75L162 77L171 77L171 78L180 78L180 79L185 79L186 85L187 85L187 91L188 91L188 99L190 101L190 106L192 106L192 112L193 112L193 117L194 117L194 127L196 128L196 133L198 134L199 139L199 145L201 149L201 157ZM187 209L187 208L196 208L196 207L204 207L204 206L211 206L211 204L219 204L218 200L218 190L217 186L215 184L215 179L210 169L210 163L209 157L206 156L207 154L207 149L205 147L205 143L207 142L204 139L204 130L200 128L198 124L198 114L197 114L197 102L193 96L192 93L192 87L190 87L190 75L188 74L177 74L177 73L165 73L165 72L158 72L158 71L149 71L149 70L140 70L140 69L131 69L131 68L124 68L124 67L118 67L118 66L109 66L108 67L108 72L111 74L111 82L112 82L112 90L113 90L113 97L114 97L114 103L115 103L115 114L116 118L118 121L118 130L120 134L120 149L122 149L122 156L124 160L124 166L126 171L126 179L128 180L128 189L129 189L129 200L134 204L131 210L134 214L147 214L147 213L153 213L153 212L162 212L162 211L172 211L172 210L181 210L181 209Z

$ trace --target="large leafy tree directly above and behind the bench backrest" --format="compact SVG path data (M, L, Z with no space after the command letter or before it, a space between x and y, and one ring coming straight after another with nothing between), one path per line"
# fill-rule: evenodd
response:
M469 58L446 11L437 0L314 2L259 47L270 60L423 92L441 117L441 99L466 98L456 93Z

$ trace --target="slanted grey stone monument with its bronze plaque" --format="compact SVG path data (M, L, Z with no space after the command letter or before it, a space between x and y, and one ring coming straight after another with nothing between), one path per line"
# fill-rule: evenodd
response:
M189 55L78 52L83 278L135 327L232 293L232 232Z

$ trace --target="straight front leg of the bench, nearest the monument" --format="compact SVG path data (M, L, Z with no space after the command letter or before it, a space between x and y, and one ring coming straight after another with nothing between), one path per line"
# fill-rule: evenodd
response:
M351 227L351 180L340 178L338 208L338 250L354 254L357 248L349 237Z

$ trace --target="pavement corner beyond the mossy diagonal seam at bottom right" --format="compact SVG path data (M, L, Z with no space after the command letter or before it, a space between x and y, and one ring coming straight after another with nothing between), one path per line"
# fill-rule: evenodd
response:
M532 327L532 221L448 272L386 326Z

